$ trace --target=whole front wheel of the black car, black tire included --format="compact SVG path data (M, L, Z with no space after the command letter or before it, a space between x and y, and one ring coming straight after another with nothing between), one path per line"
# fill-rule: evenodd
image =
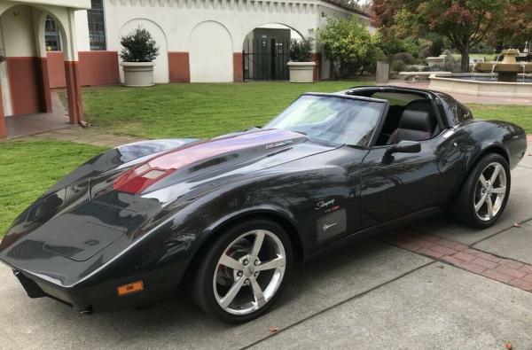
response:
M223 232L199 261L192 299L224 322L251 321L278 299L292 259L285 229L266 220L243 222Z

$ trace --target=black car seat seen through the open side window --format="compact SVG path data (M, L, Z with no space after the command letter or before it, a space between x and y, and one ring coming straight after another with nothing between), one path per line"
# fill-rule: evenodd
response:
M398 128L390 135L387 144L400 141L422 141L432 138L436 128L436 119L426 111L405 109Z

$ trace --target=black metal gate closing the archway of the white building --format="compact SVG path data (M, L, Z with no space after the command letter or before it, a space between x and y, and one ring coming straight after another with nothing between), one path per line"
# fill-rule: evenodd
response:
M288 80L290 41L272 37L249 39L242 51L244 81Z

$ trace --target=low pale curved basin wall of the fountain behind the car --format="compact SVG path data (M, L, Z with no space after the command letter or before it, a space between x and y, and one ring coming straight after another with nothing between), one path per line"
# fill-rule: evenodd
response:
M518 82L497 82L492 74L432 74L429 89L473 96L532 98L532 75L518 74Z

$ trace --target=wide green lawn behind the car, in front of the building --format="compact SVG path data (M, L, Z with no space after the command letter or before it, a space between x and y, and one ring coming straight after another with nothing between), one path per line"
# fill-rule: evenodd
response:
M334 92L368 82L169 84L84 89L86 119L143 137L210 137L261 126L303 92Z

